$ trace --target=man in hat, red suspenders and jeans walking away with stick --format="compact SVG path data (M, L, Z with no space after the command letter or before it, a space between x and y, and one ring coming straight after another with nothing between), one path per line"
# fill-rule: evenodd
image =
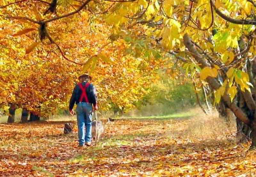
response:
M92 112L98 109L95 87L90 83L91 76L83 74L78 77L80 83L73 90L69 101L69 111L74 115L73 107L76 103L76 117L79 147L91 146L92 141ZM93 107L92 107L93 105ZM84 126L86 132L84 132Z

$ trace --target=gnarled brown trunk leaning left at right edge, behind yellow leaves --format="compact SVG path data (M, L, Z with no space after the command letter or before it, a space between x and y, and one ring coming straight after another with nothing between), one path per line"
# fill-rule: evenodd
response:
M202 67L214 67L214 64L217 64L219 67L223 66L221 61L214 61L211 55L205 53L200 47L195 45L193 41L189 38L188 34L184 35L184 44L188 48L189 52L192 53L195 60ZM195 47L197 46L197 48ZM199 52L199 51L200 52ZM206 57L205 57L206 56ZM252 140L251 148L256 147L256 60L246 60L246 64L244 65L243 70L248 72L250 77L250 82L253 85L252 92L248 90L243 90L238 86L236 98L231 101L230 96L228 94L229 85L226 86L226 90L221 95L220 106L217 107L218 111L221 115L226 115L228 108L235 114L237 118L237 130L239 133L244 135L246 138L250 138ZM227 79L227 75L225 72L228 71L228 68L222 68L218 73L217 78L215 77L207 77L206 81L211 87L212 92L218 90L223 83L224 80ZM227 120L228 121L228 120Z

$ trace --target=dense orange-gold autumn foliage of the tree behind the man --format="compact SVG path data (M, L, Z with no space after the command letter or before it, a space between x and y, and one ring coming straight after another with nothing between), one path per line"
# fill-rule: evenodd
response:
M148 5L145 0L140 0L138 3L143 5L144 9ZM124 8L124 10L129 12L132 10L134 13L139 11L141 7L138 3L136 2L136 5L132 6L132 8L134 7L133 10L129 8ZM45 5L39 6L39 4L41 2L32 4L28 8L22 6L20 9L15 9L17 10L15 13L9 11L8 15L24 16L24 14L27 14L27 18L36 19L37 21L43 20L43 18L54 17L54 15L41 17L41 13L43 13L46 7ZM158 7L156 1L154 1L154 4L154 6ZM104 6L101 9L97 9L97 6L95 8L93 9L95 13L104 10ZM65 10L59 8L58 15L67 13L67 11L74 11L74 9L69 7L69 5L65 7ZM128 15L125 11L120 10L119 12L124 13L123 16ZM84 63L82 67L63 60L60 53L56 52L56 47L48 39L44 41L43 45L40 44L40 50L35 52L34 50L39 47L40 43L35 42L38 41L38 34L36 34L35 30L38 24L33 24L33 22L29 22L26 19L17 19L19 22L16 23L23 26L23 30L15 32L13 35L32 35L23 35L21 36L22 38L12 38L11 40L4 39L4 44L9 47L4 51L5 58L14 58L21 61L13 61L13 64L10 65L13 72L8 76L10 78L18 77L13 82L17 85L15 89L19 90L19 92L10 89L11 86L5 87L5 84L0 83L0 85L4 85L2 88L9 88L6 90L0 89L1 93L12 92L12 96L8 97L8 101L15 99L17 103L20 105L24 104L30 109L34 110L36 106L40 105L43 110L54 112L57 108L67 107L70 92L72 92L75 82L77 82L77 76L80 73L87 72L92 74L92 83L96 85L99 91L100 101L103 105L102 108L109 108L110 106L105 104L109 102L114 102L118 107L133 107L132 103L139 100L144 94L144 92L140 92L141 88L146 90L145 87L148 87L148 83L151 80L149 77L152 74L151 70L158 68L155 67L157 63L153 58L150 61L141 62L140 60L143 59L136 59L136 57L132 57L129 54L124 54L125 49L130 44L122 38L129 34L129 31L120 29L115 29L116 31L114 31L102 23L102 19L87 20L89 16L91 14L83 9L79 18L74 15L72 18L63 18L62 20L56 20L54 23L47 24L49 35L60 45L63 54L72 61ZM123 18L121 21L120 19L113 18L110 20L114 20L114 22L120 21L120 23L123 23L122 20L129 20L126 17ZM2 22L1 19L0 21ZM5 23L8 26L6 29L13 29L13 24ZM10 33L13 33L12 30L4 31L3 35ZM118 36L114 42L111 42L109 39L112 33ZM139 45L145 46L142 43ZM26 54L30 55L23 55L23 46L26 46ZM137 56L143 54L143 50L142 47L136 48ZM126 55L128 57L124 57ZM138 67L140 63L145 65L143 71L140 71ZM2 69L1 66L0 69ZM1 73L1 75L4 75L4 73ZM56 79L57 81L52 79L54 77L58 78ZM107 81L106 78L108 78ZM10 80L9 78L4 79ZM107 82L107 84L104 82ZM34 83L34 86L31 86L29 83ZM61 85L62 89L59 89L56 85ZM107 92L105 86L108 88ZM38 90L35 88L38 88ZM133 93L133 90L137 92ZM50 95L54 95L54 97L50 98ZM6 100L5 97L0 98L0 100ZM38 109L36 110L38 111Z

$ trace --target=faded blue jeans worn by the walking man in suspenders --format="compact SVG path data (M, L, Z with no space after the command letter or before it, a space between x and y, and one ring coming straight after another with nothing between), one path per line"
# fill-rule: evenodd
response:
M79 144L92 141L92 105L87 103L78 103L76 105L76 118L78 128ZM84 133L84 126L86 132Z

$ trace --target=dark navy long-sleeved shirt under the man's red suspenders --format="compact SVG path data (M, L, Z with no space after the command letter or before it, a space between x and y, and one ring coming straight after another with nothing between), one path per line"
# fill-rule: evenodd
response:
M87 82L83 82L82 85L85 86L86 83ZM76 85L74 90L73 90L70 101L69 101L69 110L73 109L75 103L76 104L79 103L79 99L80 99L81 94L82 94L82 90L80 89L80 87L78 85ZM92 84L90 84L86 88L86 94L87 94L89 103L92 103L95 106L97 104L97 94L96 94L96 89ZM82 100L82 102L86 102L85 98Z

